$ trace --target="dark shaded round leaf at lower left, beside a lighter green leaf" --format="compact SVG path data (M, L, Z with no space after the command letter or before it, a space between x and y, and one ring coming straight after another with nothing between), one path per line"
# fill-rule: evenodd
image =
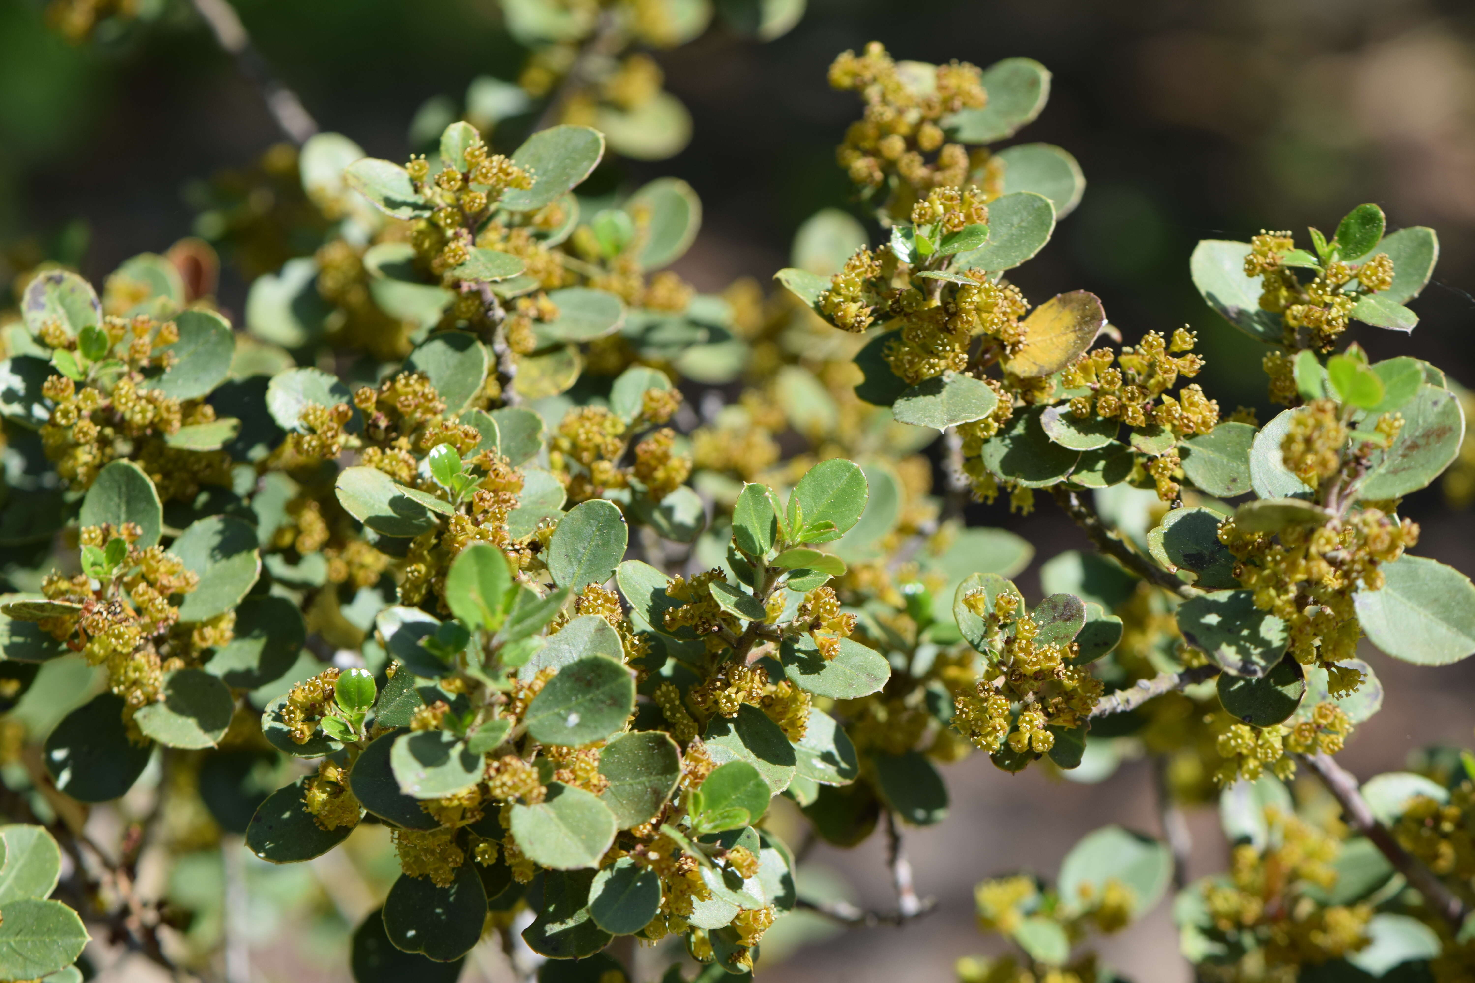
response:
M46 771L78 802L118 799L143 774L153 744L134 744L122 699L99 693L62 718L46 738Z

